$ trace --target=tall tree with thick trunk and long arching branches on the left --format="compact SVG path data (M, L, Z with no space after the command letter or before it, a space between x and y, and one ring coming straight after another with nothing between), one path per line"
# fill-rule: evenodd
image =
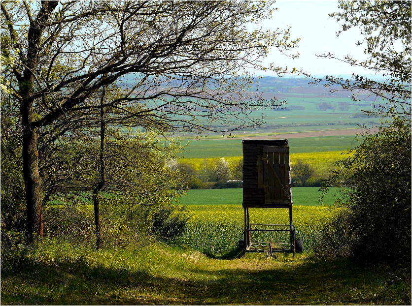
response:
M175 130L229 129L260 124L248 94L248 67L260 67L269 47L287 53L288 30L246 31L271 16L271 3L249 1L1 2L3 76L19 107L26 190L26 230L42 236L43 189L38 130L76 112L117 109ZM275 65L268 67L285 72ZM244 73L243 75L241 73ZM124 95L103 104L96 92L119 82ZM86 115L87 116L87 115ZM227 128L223 128L227 130Z

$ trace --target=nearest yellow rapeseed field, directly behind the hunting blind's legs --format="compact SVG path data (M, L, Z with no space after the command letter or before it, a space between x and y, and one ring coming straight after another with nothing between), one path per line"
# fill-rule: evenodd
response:
M243 208L239 205L190 205L188 231L179 242L211 255L224 255L237 248L244 227ZM316 228L333 213L326 206L293 206L293 224L305 237L304 247L310 249ZM288 224L287 209L249 209L251 223ZM253 234L257 241L274 241L269 234ZM262 237L257 237L261 235ZM288 236L275 235L278 242L287 242Z

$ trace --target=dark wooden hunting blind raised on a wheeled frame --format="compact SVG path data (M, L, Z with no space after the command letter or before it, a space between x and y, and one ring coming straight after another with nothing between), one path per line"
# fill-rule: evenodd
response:
M292 189L287 139L243 140L244 232L239 248L245 252L292 252L303 250L303 235L292 223ZM289 224L249 222L249 208L288 209ZM289 232L290 242L254 242L252 232ZM302 241L296 240L296 233Z

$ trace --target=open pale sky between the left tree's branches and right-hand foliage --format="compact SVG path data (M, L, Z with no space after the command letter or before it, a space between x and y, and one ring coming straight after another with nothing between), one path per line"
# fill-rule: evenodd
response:
M280 0L274 4L278 9L273 12L273 19L261 23L263 30L286 28L291 26L291 38L301 38L299 48L292 49L294 53L300 53L300 57L291 60L280 54L277 50L271 50L267 62L275 62L276 65L288 68L296 67L316 76L326 75L359 75L371 76L371 71L361 67L350 66L337 60L317 58L316 55L331 53L344 59L346 55L358 60L364 60L365 44L355 45L362 41L360 28L352 28L336 36L336 32L342 29L342 22L329 17L328 13L339 12L338 1L331 0ZM263 63L265 63L265 61ZM256 75L275 75L269 71L253 71Z

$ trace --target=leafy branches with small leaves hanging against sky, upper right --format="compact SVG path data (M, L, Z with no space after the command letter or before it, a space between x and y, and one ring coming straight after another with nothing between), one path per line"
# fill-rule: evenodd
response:
M361 28L364 40L356 44L366 44L368 59L358 61L350 56L339 59L330 53L320 57L368 68L383 80L353 74L350 79L327 76L314 78L313 82L330 87L332 92L339 91L336 86L340 86L352 92L353 100L364 99L365 94L375 98L374 109L365 110L371 115L411 116L411 1L339 3L343 11L329 14L338 22L344 21L338 36L344 31Z

